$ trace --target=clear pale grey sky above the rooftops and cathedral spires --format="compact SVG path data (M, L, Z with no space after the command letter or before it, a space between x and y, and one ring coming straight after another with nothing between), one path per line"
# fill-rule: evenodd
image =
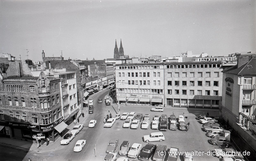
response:
M0 53L16 59L228 56L256 51L254 0L0 0ZM28 49L28 56L27 50Z

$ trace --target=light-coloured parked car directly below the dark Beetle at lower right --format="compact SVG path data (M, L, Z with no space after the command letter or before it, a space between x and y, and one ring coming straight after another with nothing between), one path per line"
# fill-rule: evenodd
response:
M238 156L240 158L244 158L242 153L240 151L236 151L231 148L224 148L224 149L214 149L215 151L215 156L219 158L224 158L224 157L232 157L232 156Z

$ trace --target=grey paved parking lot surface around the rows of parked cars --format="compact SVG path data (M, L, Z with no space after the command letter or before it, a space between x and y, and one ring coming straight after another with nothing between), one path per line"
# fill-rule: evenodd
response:
M113 117L115 116L115 111L117 110L117 107L115 106L112 108L111 106L108 106L110 109L110 112L112 113ZM106 115L108 114L108 110L106 111ZM223 149L225 146L220 146L216 145L213 146L209 143L209 140L211 139L210 137L205 136L202 124L200 123L199 120L196 120L195 117L201 112L197 112L195 110L180 110L180 109L164 109L164 112L152 112L150 111L150 107L130 107L130 106L125 106L125 107L120 107L120 114L122 115L123 112L136 112L137 113L142 113L143 116L145 114L150 114L150 128L148 129L141 129L141 123L140 121L140 126L138 129L131 129L131 128L123 128L124 120L116 120L114 123L113 127L111 128L104 128L101 134L101 137L104 138L100 142L97 143L97 152L100 154L99 160L104 160L104 157L106 156L106 148L108 145L108 142L110 139L119 139L119 144L116 152L120 150L120 146L123 141L129 141L130 145L133 143L141 143L142 147L144 147L147 143L143 142L142 137L143 135L148 135L151 132L159 132L159 130L156 129L151 129L151 122L153 120L153 117L155 115L161 116L162 114L166 114L167 117L170 117L172 112L174 112L176 118L179 117L179 115L182 115L183 112L185 112L185 116L188 117L188 119L185 119L185 123L190 122L190 128L186 132L181 131L177 128L177 130L169 130L169 122L168 122L168 130L167 131L162 131L165 140L162 142L149 142L152 144L160 144L160 145L166 145L167 149L169 150L171 147L179 148L180 151L190 151L190 152L204 152L203 154L199 155L194 155L193 158L194 160L199 160L199 161L205 161L205 160L211 160L211 161L219 161L222 159L219 159L215 156L212 156L209 154L211 151L214 151L214 149ZM190 112L190 113L189 113ZM210 113L210 115L217 115L218 112L215 114ZM177 126L178 127L178 126ZM103 128L103 126L102 126ZM208 152L208 155L207 155ZM118 157L120 157L117 154ZM152 160L153 157L151 157ZM132 158L130 158L131 160ZM137 158L138 159L138 158ZM165 157L167 159L167 156ZM179 156L178 159L179 161L183 161L183 156Z

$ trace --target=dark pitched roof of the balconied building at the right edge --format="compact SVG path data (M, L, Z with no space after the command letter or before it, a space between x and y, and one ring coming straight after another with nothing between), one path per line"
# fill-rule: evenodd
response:
M237 74L237 75L256 75L256 58L251 58L247 63L237 68L237 65L234 65L226 70L223 73Z

